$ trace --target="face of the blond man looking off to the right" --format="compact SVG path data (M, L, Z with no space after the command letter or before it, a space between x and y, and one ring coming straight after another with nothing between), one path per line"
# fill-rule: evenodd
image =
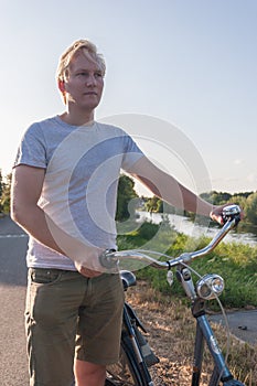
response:
M83 53L75 55L69 64L69 75L64 84L66 103L73 103L85 110L94 110L101 98L103 73L97 63Z

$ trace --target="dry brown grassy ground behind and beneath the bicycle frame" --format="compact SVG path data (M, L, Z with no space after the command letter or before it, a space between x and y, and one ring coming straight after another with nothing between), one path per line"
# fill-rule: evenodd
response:
M182 303L171 304L160 302L159 296L144 282L138 282L136 288L130 288L127 299L136 308L139 318L148 330L148 341L160 363L151 369L154 385L158 386L189 386L192 372L193 340L195 322L191 311ZM223 349L226 351L227 334L224 328L213 323L213 330L217 334L218 342L225 342ZM248 366L247 375L242 375L242 379L247 386L257 385L257 344L255 350L249 349L243 341L234 335L229 336L231 351L236 352L242 357L243 366ZM248 347L246 350L246 347ZM244 364L244 360L245 364ZM202 384L207 386L211 374L211 357L204 355L204 367ZM237 372L233 362L231 368ZM238 369L239 372L239 369ZM250 375L248 374L250 372ZM237 375L235 374L234 375ZM238 375L237 375L238 376ZM247 383L247 378L251 380Z

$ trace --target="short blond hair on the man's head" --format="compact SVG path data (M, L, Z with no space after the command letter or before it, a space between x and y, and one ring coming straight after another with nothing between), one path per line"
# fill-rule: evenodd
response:
M97 63L101 71L103 76L105 76L105 72L106 72L105 60L101 56L101 54L97 52L96 45L89 42L88 40L81 39L74 42L60 57L57 72L56 72L57 81L63 82L67 79L71 61L77 52L83 52L83 54L89 61Z

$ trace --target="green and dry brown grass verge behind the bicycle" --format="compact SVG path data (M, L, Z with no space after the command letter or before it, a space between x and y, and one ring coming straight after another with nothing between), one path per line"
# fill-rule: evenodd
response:
M143 223L137 230L120 235L119 248L143 247L149 243L149 237L158 234L159 227L157 224ZM182 251L204 247L208 240L206 237L196 240L178 234L169 227L167 221L160 237L161 248L165 244L167 254L174 257ZM219 299L226 311L257 307L257 247L221 243L212 254L193 261L191 266L201 275L216 272L225 279L225 290ZM173 377L178 376L174 384L185 386L192 365L195 324L189 299L185 298L176 279L172 287L168 285L165 275L165 271L151 267L137 270L138 288L128 291L128 298L150 328L149 341L152 347L163 355L156 368L157 376L161 373L160 378L162 382L167 379L164 385L169 385L172 374ZM208 309L210 312L221 311L216 301L208 302ZM213 330L224 355L227 355L234 376L246 386L257 385L257 344L238 341L227 334L225 328L217 324L213 324ZM207 385L208 374L212 371L208 353L204 354L203 368L203 384Z

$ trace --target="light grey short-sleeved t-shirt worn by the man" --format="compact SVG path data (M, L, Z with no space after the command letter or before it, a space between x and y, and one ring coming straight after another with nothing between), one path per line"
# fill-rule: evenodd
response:
M120 170L142 157L122 129L93 122L69 126L58 116L33 124L24 133L14 167L46 170L39 206L74 239L116 248L116 203ZM36 226L36 224L35 224ZM28 267L74 270L74 262L30 237Z

